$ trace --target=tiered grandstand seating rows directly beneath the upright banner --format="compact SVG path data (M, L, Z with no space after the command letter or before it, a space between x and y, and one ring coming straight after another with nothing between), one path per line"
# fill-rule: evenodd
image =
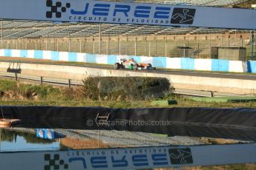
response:
M99 35L99 24L79 24L36 21L3 21L3 38L80 38ZM101 24L102 35L184 35L204 33L226 33L225 29L206 29L193 27L161 27L135 24ZM237 33L247 32L237 30Z

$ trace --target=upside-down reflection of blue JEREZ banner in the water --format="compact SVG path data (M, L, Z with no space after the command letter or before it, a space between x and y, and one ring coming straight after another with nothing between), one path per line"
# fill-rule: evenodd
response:
M53 152L1 152L0 168L11 169L155 169L256 163L256 146L159 146ZM31 161L32 160L32 161Z

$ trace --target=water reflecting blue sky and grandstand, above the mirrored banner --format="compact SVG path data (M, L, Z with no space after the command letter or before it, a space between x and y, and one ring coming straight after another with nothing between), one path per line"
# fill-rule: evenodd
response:
M136 129L136 128L135 128ZM105 149L144 146L186 146L211 143L244 143L243 140L220 140L207 137L96 129L1 129L0 151ZM133 131L132 131L133 130ZM211 132L209 132L211 133ZM41 136L40 136L41 135ZM50 135L50 139L49 139Z

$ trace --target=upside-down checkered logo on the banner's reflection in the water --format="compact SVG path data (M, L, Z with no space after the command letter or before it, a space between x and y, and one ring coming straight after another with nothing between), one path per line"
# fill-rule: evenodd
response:
M51 159L50 154L45 154L45 161L48 162L45 165L45 170L60 169L60 167L68 169L68 164L64 160L59 160L59 154L54 154L53 159Z

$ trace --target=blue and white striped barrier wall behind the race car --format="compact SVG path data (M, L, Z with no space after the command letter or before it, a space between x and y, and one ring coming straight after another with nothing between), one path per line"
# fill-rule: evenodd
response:
M0 50L0 56L49 59L53 61L79 61L96 64L114 64L118 58L134 58L166 69L189 69L217 72L256 72L256 61L228 61L219 59L165 58L131 55L97 55L79 52L42 50Z

